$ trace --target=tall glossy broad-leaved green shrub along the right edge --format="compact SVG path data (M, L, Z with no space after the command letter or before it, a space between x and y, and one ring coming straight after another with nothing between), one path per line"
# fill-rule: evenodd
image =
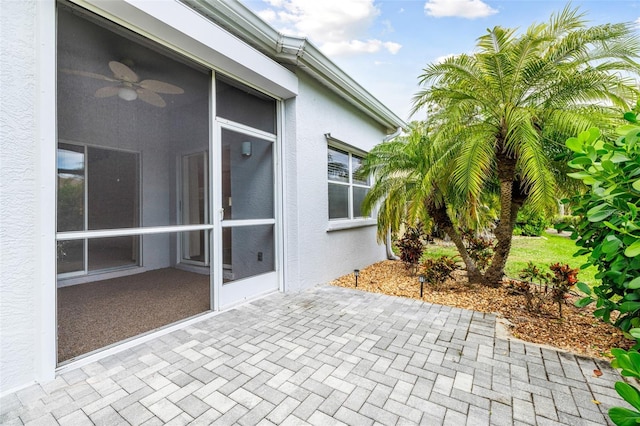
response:
M575 196L574 214L584 217L573 226L572 238L580 247L576 255L588 255L596 266L600 285L578 287L586 297L577 302L596 302L596 317L613 321L631 336L640 337L640 125L637 113L625 114L631 125L617 129L615 142L601 139L592 128L566 145L573 151L569 176L590 188ZM586 265L585 265L586 266ZM619 315L612 313L618 312ZM627 335L629 336L629 335ZM636 345L637 346L637 345Z

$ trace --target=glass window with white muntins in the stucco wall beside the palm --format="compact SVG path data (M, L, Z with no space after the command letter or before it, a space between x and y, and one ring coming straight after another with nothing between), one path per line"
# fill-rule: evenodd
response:
M369 177L358 175L362 157L330 146L327 158L329 219L363 218L362 201L369 192Z

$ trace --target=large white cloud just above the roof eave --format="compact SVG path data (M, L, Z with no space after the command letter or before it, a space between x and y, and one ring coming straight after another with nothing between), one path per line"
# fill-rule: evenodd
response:
M375 53L395 54L401 45L372 40L369 29L380 10L374 0L267 0L269 9L258 15L279 31L308 37L328 55ZM383 23L383 33L392 31Z

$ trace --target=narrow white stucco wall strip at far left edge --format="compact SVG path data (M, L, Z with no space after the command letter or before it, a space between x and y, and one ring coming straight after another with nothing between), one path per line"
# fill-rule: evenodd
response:
M34 380L36 2L0 2L0 395Z

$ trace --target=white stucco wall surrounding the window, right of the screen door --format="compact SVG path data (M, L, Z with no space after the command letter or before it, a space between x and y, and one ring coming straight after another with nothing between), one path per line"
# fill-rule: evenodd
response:
M383 260L376 227L328 232L326 133L362 151L382 142L385 129L326 87L299 73L295 139L287 134L288 290L324 283ZM291 109L292 106L288 105ZM290 120L290 114L287 119ZM295 164L294 164L295 163ZM295 175L295 182L291 176Z

